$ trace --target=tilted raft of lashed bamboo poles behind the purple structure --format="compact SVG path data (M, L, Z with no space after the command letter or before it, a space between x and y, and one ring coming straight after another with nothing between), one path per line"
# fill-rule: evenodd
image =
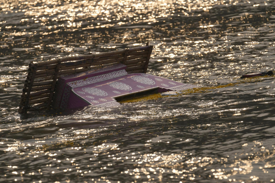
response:
M51 109L58 78L65 75L117 63L126 65L125 70L129 74L146 73L152 49L153 46L146 43L146 46L142 47L31 62L18 112Z

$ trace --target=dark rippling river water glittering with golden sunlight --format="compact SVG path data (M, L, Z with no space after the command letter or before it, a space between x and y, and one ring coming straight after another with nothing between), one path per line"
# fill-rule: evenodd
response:
M0 182L274 182L275 1L1 0ZM154 45L203 87L116 108L17 113L30 61ZM219 87L223 85L223 87Z

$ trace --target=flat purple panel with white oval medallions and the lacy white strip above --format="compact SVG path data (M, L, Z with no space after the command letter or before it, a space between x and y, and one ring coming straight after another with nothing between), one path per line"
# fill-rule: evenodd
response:
M79 86L74 87L71 90L74 95L77 95L78 97L72 98L73 100L71 103L81 103L82 100L93 106L109 107L119 104L115 101L115 98L117 97L142 92L145 90L158 89L159 92L166 92L169 90L181 91L194 87L193 85L183 84L170 79L143 73L123 74L122 76L114 77L117 73L121 72L118 71L87 78L86 80L89 80L89 82L92 83L84 86L82 86L84 83L82 80L81 82L83 83L74 84ZM113 78L106 79L110 75L112 75Z

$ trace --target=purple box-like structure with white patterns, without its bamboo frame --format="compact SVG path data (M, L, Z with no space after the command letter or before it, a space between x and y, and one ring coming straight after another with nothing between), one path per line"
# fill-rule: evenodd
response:
M121 63L99 70L60 77L56 88L54 108L72 109L88 105L119 105L117 98L154 90L157 93L181 91L194 85L179 83L145 73L126 72Z

